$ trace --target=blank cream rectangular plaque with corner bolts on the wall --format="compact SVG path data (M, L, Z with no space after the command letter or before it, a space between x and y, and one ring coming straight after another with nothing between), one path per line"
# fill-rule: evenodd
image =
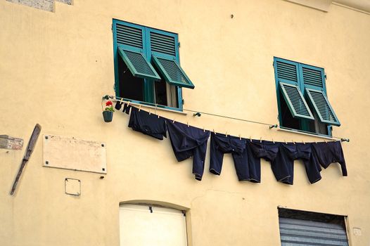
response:
M106 174L106 144L74 137L44 135L44 167Z

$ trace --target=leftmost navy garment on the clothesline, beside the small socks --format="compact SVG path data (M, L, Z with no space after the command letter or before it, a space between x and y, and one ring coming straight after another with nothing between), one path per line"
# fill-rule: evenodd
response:
M159 117L158 115L149 114L144 110L128 106L125 108L125 112L129 113L131 108L131 115L129 117L129 127L134 131L139 131L148 136L153 136L159 140L163 140L163 136L167 138L166 134L166 122L165 118Z

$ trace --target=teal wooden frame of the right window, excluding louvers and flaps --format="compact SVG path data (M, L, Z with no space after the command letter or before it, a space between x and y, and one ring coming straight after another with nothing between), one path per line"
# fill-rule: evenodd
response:
M279 112L279 116L278 116L278 118L279 118L279 127L281 129L288 129L288 130L292 130L292 131L305 132L305 133L314 134L314 135L317 135L317 136L331 137L332 136L332 132L331 132L332 131L332 125L331 124L326 123L326 130L327 130L328 134L320 134L320 133L317 133L317 132L314 132L314 131L310 131L310 122L309 122L310 119L299 119L300 129L293 129L293 128L290 128L290 127L283 127L282 126L282 123L283 123L283 118L282 117L283 117L283 115L282 115L282 109L281 109L281 100L284 100L284 98L281 98L281 96L280 96L280 83L279 82L286 83L288 81L286 81L285 79L279 79L278 78L277 65L276 65L277 61L297 65L297 70L298 70L297 75L298 76L297 76L297 84L296 85L300 89L300 92L302 93L304 98L306 98L305 88L316 89L316 90L319 89L319 90L324 92L326 98L328 96L327 96L327 92L326 92L326 76L325 76L324 68L316 67L316 66L312 66L312 65L307 65L305 63L298 63L298 62L295 62L293 60L287 60L287 59L278 58L278 57L274 56L274 78L275 78L275 90L276 90L276 99L277 99L276 103L278 105L278 112ZM307 67L307 68L312 69L312 70L321 71L321 81L323 82L322 87L314 86L314 85L311 85L311 84L305 84L304 81L303 81L302 67ZM292 82L289 82L289 84L291 84L291 83ZM314 112L314 114L316 114L316 112ZM319 115L317 115L317 119L314 119L314 122L316 122L316 121L319 121Z

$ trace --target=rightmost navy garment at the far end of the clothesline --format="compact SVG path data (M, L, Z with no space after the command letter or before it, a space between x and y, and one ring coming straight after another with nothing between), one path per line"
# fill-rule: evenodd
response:
M347 176L347 167L345 166L345 159L340 141L312 143L312 147L322 167L326 169L331 163L338 162L342 169L342 175Z

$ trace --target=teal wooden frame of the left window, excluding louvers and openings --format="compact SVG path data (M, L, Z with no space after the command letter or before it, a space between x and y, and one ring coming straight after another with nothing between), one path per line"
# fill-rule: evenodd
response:
M141 33L143 34L142 42L143 42L143 48L136 48L132 46L127 46L125 44L117 44L117 23L120 25L126 25L128 27L134 27L141 30ZM165 34L167 36L174 37L174 44L175 44L175 53L176 56L170 56L163 53L158 53L155 51L151 51L151 31ZM134 24L132 22L126 22L123 20L117 20L113 18L112 21L112 32L113 32L113 61L114 61L114 72L115 72L115 96L120 96L120 80L119 80L119 69L118 69L118 59L120 59L120 53L118 52L118 47L127 48L132 51L136 52L142 52L144 54L144 57L146 57L151 65L153 65L153 56L159 56L165 57L165 58L174 58L178 64L180 64L179 59L179 37L178 34L173 32L166 32L163 30L158 30L152 27L146 27L143 25ZM175 90L177 90L175 93L177 93L177 107L171 107L167 105L156 105L154 103L155 101L155 81L153 79L145 79L143 78L143 98L145 101L136 101L131 98L124 98L125 101L130 101L132 103L142 104L142 105L151 105L156 106L158 108L165 108L168 110L175 110L175 111L183 111L183 98L182 98L182 88L179 86L175 86ZM166 82L167 83L167 82ZM171 92L170 92L171 93Z

